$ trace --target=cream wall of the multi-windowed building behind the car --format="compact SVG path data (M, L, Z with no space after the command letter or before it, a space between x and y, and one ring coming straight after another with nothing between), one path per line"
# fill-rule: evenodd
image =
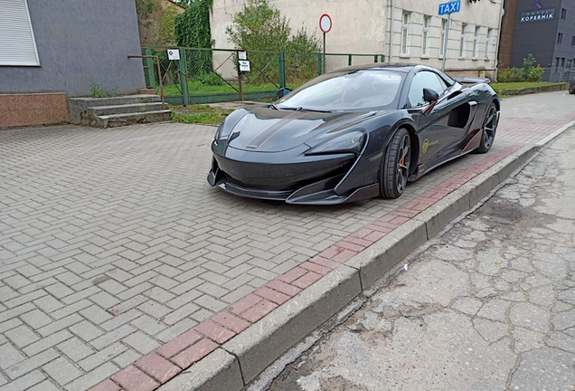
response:
M457 75L477 75L482 70L487 71L488 75L493 73L502 1L470 3L461 0L461 11L451 17L447 70ZM386 62L422 63L440 68L441 21L447 19L447 15L438 16L438 5L445 2L447 0L270 0L269 4L289 18L294 32L304 26L308 32L315 32L320 38L319 18L322 14L329 14L333 28L326 36L327 52L381 53L386 55ZM244 3L245 0L213 0L211 24L216 48L233 48L225 31ZM402 24L404 12L410 14L408 24ZM422 52L424 16L429 16L427 52ZM467 28L464 50L460 52L462 24L467 24ZM407 28L407 45L401 41L402 27ZM367 61L372 62L372 58L366 58L363 62ZM337 62L341 62L341 66L347 65L344 59ZM358 62L359 59L354 59L354 63Z

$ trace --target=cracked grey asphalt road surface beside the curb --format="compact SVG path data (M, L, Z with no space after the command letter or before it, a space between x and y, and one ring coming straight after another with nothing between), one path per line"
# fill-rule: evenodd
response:
M269 389L575 390L573 149L570 129Z

